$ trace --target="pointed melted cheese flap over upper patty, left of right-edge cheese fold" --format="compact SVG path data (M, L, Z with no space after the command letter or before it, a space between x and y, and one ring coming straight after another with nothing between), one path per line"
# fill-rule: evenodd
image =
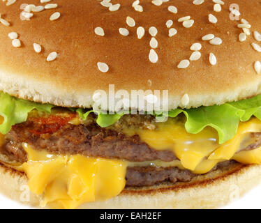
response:
M218 134L212 128L205 128L198 134L189 134L184 123L169 118L166 123L157 123L157 130L126 129L125 134L138 134L151 148L171 150L186 169L195 169L202 159L218 144Z

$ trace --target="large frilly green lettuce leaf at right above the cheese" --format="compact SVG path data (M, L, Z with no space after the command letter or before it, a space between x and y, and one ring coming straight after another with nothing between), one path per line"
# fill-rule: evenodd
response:
M168 113L176 117L181 113L186 116L186 131L197 134L207 126L218 132L219 144L234 137L240 121L248 121L251 116L261 120L261 95L238 102L225 103L196 109L175 109Z

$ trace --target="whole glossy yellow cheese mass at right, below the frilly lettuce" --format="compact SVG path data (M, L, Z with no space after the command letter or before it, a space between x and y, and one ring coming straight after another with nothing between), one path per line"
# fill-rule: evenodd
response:
M184 123L169 119L165 123L156 123L156 130L125 129L128 135L138 134L140 139L156 150L171 150L179 158L181 166L196 174L205 174L218 162L225 160L244 160L244 163L259 163L259 153L242 151L247 146L251 132L261 132L261 121L252 118L240 123L237 134L225 144L218 144L218 134L213 128L205 128L198 134L189 134ZM236 154L237 153L237 154ZM243 158L246 154L248 158ZM240 162L240 161L239 161Z

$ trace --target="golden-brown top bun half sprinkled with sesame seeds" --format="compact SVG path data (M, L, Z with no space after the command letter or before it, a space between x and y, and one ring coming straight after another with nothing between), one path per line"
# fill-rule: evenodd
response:
M57 8L33 13L30 21L20 19L22 3L17 0L5 6L5 2L0 2L1 17L10 22L10 26L0 24L0 90L11 95L64 107L91 107L94 91L108 91L108 85L114 84L115 91L124 89L128 93L168 90L169 109L174 109L219 105L261 93L261 76L254 69L260 53L251 47L251 43L258 43L252 32L261 31L260 1L228 0L217 13L212 1L199 6L193 1L169 1L155 6L151 0L144 0L140 13L132 7L133 0L121 1L119 10L114 12L99 1L57 0ZM27 3L37 6L39 1ZM232 3L237 3L240 19L251 24L251 35L243 43L239 42L240 21L230 20ZM167 10L171 5L177 7L177 14ZM61 13L61 17L50 21L54 12ZM210 13L217 17L216 24L209 22ZM191 28L177 21L187 15L195 21ZM135 27L126 24L127 16L133 17ZM167 20L173 20L172 28L177 29L177 35L171 38ZM98 26L104 29L105 36L94 33ZM142 39L137 38L138 26L145 29ZM157 63L149 61L151 26L158 29ZM121 27L128 29L128 36L119 34ZM12 46L8 38L11 31L18 33L21 47ZM223 43L211 45L203 41L202 36L209 33ZM34 52L33 43L43 47L40 54ZM201 58L191 61L186 69L177 68L181 60L191 56L193 43L202 44ZM47 62L51 52L57 52L58 57ZM211 52L216 55L216 66L209 63ZM108 72L98 70L99 61L107 63ZM186 106L181 102L184 94L190 98Z

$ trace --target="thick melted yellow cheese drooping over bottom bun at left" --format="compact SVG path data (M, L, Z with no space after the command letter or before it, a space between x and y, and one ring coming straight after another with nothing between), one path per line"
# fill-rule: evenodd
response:
M85 202L115 197L125 187L124 161L49 155L23 146L28 162L20 170L27 174L31 192L45 195L41 206L77 208Z

